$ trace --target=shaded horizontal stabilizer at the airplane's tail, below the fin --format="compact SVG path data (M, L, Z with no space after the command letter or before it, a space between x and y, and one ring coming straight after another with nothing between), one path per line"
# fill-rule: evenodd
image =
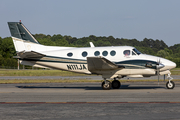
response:
M17 53L17 56L14 58L42 58L46 55L43 55L41 53L35 52L35 51L21 51Z

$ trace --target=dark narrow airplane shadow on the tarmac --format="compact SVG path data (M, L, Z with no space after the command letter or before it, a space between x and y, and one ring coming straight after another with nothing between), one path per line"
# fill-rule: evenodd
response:
M93 87L93 86L16 86L17 88L22 89L85 89L85 90L102 90L101 86ZM161 86L129 86L129 85L121 85L119 89L165 89L165 87ZM116 89L117 90L117 89Z

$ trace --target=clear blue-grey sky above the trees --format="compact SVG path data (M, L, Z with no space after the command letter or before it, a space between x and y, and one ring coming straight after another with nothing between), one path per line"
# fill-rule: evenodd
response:
M0 0L0 37L19 20L32 34L113 36L180 44L180 0Z

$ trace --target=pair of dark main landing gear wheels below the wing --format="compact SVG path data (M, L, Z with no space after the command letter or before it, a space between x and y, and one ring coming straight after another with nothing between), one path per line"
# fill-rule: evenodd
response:
M113 89L119 89L121 87L121 83L118 80L116 80L116 78L114 78L112 83L110 81L106 80L106 78L104 78L104 81L102 82L102 89L110 90L111 87Z

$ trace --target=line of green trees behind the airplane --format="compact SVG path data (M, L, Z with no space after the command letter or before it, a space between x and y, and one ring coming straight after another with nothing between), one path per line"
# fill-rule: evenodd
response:
M144 54L154 55L169 59L180 67L180 44L168 47L163 40L153 40L144 38L143 41L137 39L114 38L113 36L94 36L76 38L71 36L57 35L33 35L40 44L48 46L67 46L67 47L89 47L89 42L95 46L134 46ZM17 67L16 51L11 37L0 37L0 66Z

